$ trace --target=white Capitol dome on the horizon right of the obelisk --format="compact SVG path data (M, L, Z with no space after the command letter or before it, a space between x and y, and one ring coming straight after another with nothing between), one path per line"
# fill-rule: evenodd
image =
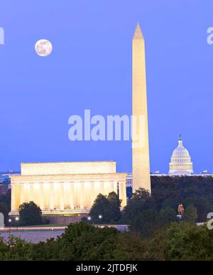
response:
M170 161L169 175L192 175L193 164L188 150L182 145L182 139L179 137L178 147L173 151Z

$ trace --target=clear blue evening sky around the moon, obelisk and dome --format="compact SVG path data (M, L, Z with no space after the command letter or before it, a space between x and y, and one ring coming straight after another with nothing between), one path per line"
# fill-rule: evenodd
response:
M210 0L0 0L0 170L20 162L116 160L131 142L71 142L70 115L131 115L131 39L146 39L151 171L168 172L182 134L194 170L213 171ZM40 38L53 52L35 54Z

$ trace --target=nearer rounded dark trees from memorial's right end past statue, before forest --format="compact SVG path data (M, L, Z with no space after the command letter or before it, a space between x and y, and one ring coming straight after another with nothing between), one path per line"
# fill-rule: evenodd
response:
M99 194L92 205L89 217L84 218L84 222L90 224L129 224L131 232L148 238L158 232L159 229L170 225L171 222L195 224L197 221L195 206L188 205L180 220L175 208L165 206L158 209L153 195L142 188L133 193L123 211L121 211L120 205L121 201L115 192L109 193L108 197Z

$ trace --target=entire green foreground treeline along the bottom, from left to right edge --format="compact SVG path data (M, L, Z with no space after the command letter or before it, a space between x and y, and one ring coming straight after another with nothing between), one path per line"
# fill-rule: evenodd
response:
M172 223L153 237L70 224L58 239L38 244L0 238L1 260L213 260L213 231L186 222Z

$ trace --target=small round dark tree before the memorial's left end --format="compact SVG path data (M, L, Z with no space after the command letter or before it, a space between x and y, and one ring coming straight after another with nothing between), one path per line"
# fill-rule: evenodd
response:
M35 202L23 202L19 207L20 223L22 225L42 224L41 209Z

